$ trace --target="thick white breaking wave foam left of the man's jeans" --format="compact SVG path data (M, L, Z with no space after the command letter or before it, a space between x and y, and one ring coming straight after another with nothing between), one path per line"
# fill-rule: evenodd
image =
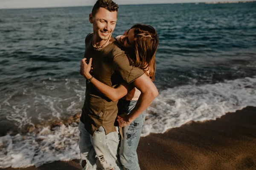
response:
M79 159L79 130L64 126L39 133L0 137L0 168L36 167L52 161Z

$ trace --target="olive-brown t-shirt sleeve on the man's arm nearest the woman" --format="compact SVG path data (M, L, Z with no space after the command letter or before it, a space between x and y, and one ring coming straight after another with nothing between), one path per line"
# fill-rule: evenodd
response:
M117 72L128 84L144 74L140 68L130 65L125 52L120 51L113 58L114 71Z

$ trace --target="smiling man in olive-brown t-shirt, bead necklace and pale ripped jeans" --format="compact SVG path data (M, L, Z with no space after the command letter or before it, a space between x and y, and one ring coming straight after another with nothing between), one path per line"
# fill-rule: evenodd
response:
M85 52L81 61L80 74L84 76L85 60L93 58L93 77L115 87L122 81L132 83L141 91L136 107L129 116L118 117L119 125L129 125L137 118L153 99L158 91L144 71L130 65L125 51L111 36L117 20L117 4L112 0L97 0L93 6L89 21L93 24L93 34L85 39ZM99 93L87 79L85 101L79 123L80 155L85 170L102 168L119 170L118 161L119 136L114 122L117 116L117 101L112 102ZM95 152L95 153L94 153ZM97 163L93 159L96 154ZM96 164L96 165L95 165Z

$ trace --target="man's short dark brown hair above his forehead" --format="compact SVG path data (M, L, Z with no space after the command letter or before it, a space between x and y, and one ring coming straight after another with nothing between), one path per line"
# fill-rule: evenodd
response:
M93 6L93 16L95 16L99 8L105 8L111 12L116 11L117 13L118 5L114 3L112 0L97 0Z

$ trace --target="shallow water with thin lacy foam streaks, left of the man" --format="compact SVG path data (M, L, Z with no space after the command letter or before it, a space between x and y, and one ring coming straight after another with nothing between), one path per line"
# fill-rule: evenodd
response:
M65 79L65 82L64 87L63 82L43 82L44 85L39 87L17 89L5 94L0 99L0 115L23 129L27 125L35 126L81 112L85 86L81 86L79 80L70 83ZM84 85L84 82L81 84Z

